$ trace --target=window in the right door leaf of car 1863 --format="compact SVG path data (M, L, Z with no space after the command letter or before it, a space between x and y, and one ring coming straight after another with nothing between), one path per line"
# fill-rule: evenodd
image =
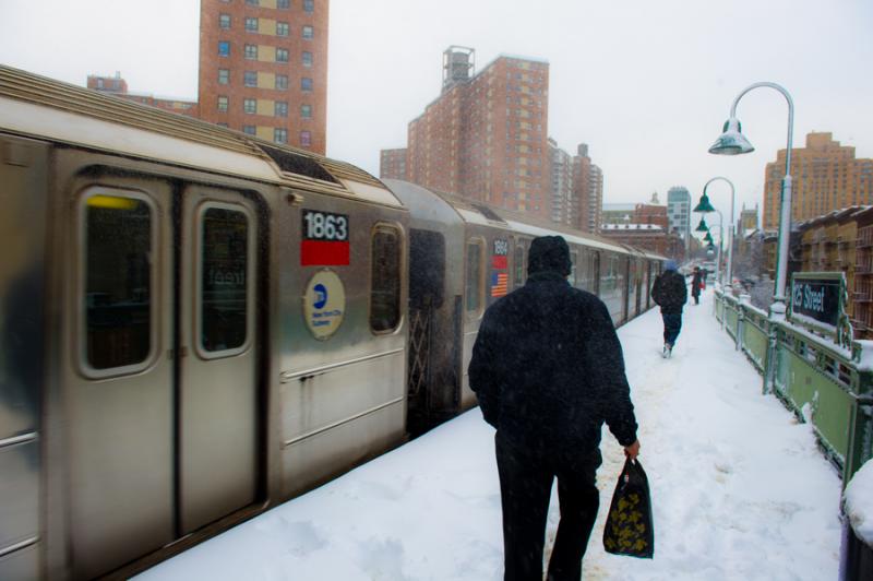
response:
M238 349L246 343L249 311L249 217L210 206L200 218L200 346Z

